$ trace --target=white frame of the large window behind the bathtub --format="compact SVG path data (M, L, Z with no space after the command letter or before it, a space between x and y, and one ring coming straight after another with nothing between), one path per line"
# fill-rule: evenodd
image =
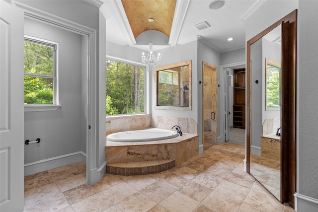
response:
M149 66L146 66L145 64L142 63L138 63L138 62L134 62L134 61L129 61L129 60L125 60L125 59L121 59L121 58L117 58L117 57L112 57L112 56L108 56L106 55L106 59L105 61L110 60L110 61L114 61L114 62L118 62L118 63L124 63L124 64L129 64L132 66L139 66L139 67L144 67L144 112L143 113L127 113L127 114L116 114L116 115L107 115L105 114L106 117L119 117L119 116L136 116L136 115L143 115L143 114L149 114L149 110L150 110L150 92L149 92L149 80L150 80L150 74L148 74L149 72ZM106 67L105 67L106 68ZM106 70L105 70L105 86L106 86ZM105 89L105 98L106 98L106 89Z

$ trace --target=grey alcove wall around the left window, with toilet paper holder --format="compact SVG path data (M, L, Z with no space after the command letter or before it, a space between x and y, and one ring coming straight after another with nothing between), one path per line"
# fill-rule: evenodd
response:
M25 112L24 138L41 139L24 146L24 163L81 149L81 35L25 18L25 35L58 42L59 103L56 111Z

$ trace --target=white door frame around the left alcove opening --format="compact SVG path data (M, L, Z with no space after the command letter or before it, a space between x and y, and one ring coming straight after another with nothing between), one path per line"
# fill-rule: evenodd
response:
M85 36L87 46L87 63L86 63L86 92L87 92L87 110L85 113L88 115L86 122L86 182L93 185L101 180L105 173L106 161L97 161L101 158L100 154L105 153L105 149L100 149L99 141L100 120L97 115L99 112L99 64L97 58L97 36L96 30L87 26L69 21L67 19L58 17L56 15L41 11L39 9L27 6L21 2L14 1L14 4L24 11L24 16L27 18L35 19L65 30ZM106 119L106 118L105 118ZM97 157L98 155L98 157ZM105 154L104 154L105 155ZM100 164L101 163L101 164Z

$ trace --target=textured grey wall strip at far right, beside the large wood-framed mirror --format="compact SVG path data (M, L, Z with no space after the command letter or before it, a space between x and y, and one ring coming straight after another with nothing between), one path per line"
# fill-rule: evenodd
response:
M318 201L318 1L301 0L297 60L297 192ZM314 209L314 208L313 208ZM318 202L315 206L318 211ZM314 211L309 208L304 211Z

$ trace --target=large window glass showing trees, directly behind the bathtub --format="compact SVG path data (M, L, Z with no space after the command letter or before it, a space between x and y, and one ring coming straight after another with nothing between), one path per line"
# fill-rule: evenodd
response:
M145 68L106 61L106 115L145 113Z

